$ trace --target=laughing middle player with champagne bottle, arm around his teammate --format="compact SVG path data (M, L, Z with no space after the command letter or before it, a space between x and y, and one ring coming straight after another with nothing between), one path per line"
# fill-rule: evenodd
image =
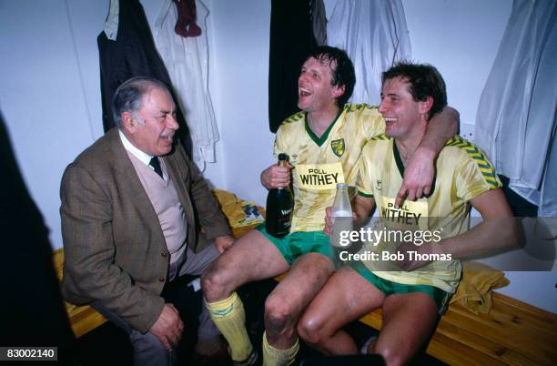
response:
M385 128L377 107L347 103L354 83L354 67L344 51L321 46L307 58L298 82L301 112L284 121L275 142L275 155L288 154L290 165L273 165L261 173L261 183L269 189L288 186L292 174L295 206L290 234L277 239L263 226L252 230L202 276L206 305L235 364L248 365L257 358L235 292L238 286L289 270L266 300L263 335L264 364L286 365L299 348L299 316L334 270L329 238L322 231L325 208L332 204L337 183L355 184L361 148ZM433 160L457 125L458 114L451 108L431 119L399 186L400 198L429 192Z

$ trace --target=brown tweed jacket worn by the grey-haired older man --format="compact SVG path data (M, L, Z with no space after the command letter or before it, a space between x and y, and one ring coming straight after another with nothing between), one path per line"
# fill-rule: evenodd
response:
M194 251L228 235L227 221L181 146L165 158L186 213ZM71 163L62 178L62 293L76 305L98 300L147 332L164 306L168 250L155 208L113 128ZM203 227L204 233L199 231Z

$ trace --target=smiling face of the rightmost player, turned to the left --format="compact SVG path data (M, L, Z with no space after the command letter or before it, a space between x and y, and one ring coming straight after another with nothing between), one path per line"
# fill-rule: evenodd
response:
M388 137L401 140L411 137L414 127L420 121L426 121L424 108L427 108L427 102L416 102L410 94L409 86L401 77L394 77L383 83L379 111L385 118L385 134Z

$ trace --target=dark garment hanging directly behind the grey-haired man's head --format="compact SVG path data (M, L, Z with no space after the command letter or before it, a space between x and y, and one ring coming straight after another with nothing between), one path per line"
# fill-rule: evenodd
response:
M111 22L112 26L109 26L109 29L114 29L116 15L112 10L113 6L111 5L112 16L109 16L108 21ZM160 56L158 56L157 48L153 42L143 6L138 0L120 0L117 10L119 12L117 15L116 40L109 39L105 31L101 32L96 38L100 61L103 127L105 132L116 126L114 117L112 117L114 92L120 84L130 77L154 77L168 86L172 97L176 100L167 69ZM114 32L111 35L115 36ZM190 154L190 137L179 107L177 108L177 122L180 126L177 131L178 138L186 148L187 153Z

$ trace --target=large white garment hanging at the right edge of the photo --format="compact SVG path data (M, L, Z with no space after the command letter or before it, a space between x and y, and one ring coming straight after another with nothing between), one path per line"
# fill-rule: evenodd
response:
M557 217L557 3L516 0L481 93L475 136L509 187Z

